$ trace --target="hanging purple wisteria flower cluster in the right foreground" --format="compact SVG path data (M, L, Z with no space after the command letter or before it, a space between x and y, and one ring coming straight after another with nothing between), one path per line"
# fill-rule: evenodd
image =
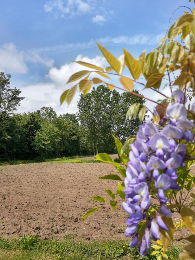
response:
M159 227L168 230L161 218L161 214L171 217L167 208L169 203L165 191L179 190L177 184L177 168L184 166L186 145L179 140L193 140L191 132L193 122L187 120L187 109L184 105L184 93L181 90L172 92L172 102L166 110L166 116L159 122L166 126L161 132L151 120L140 125L136 141L131 144L129 162L125 178L125 198L123 209L130 214L126 224L125 235L134 236L129 246L138 245L140 255L150 252L150 232L154 240L159 239ZM151 185L157 192L160 211L156 211L156 218L148 214L151 206ZM138 239L138 223L146 220L145 234ZM159 227L158 227L159 226Z

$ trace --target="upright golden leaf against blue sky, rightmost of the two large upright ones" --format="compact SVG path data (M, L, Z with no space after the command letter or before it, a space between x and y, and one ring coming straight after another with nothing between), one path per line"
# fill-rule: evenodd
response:
M125 63L129 71L131 72L131 75L134 79L139 79L140 74L142 72L140 62L138 60L135 60L127 50L123 49L123 52L125 54Z

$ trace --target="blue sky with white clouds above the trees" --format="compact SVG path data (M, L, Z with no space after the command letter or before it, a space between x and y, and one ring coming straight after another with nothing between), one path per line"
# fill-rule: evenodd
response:
M193 1L192 1L193 2ZM122 48L137 58L151 51L165 35L172 12L187 0L8 0L1 3L0 70L12 75L12 86L26 99L18 112L47 105L58 114L76 112L59 106L68 77L83 67L71 60L106 66L94 41L116 57ZM174 18L183 14L180 8ZM79 56L78 56L79 55Z

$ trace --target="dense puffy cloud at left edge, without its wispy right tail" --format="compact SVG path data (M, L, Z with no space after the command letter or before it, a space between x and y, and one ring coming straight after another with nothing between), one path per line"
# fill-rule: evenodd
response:
M0 70L9 73L27 73L24 52L18 51L13 42L0 46Z

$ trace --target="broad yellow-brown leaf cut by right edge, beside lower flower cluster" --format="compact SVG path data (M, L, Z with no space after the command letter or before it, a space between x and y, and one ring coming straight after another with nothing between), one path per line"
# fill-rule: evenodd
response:
M195 212L188 207L183 207L181 217L187 228L195 234Z

